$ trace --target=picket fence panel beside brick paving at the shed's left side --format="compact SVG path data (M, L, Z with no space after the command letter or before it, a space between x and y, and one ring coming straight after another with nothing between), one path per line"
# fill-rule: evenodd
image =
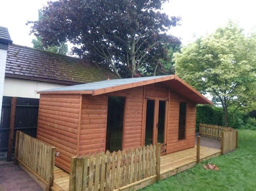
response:
M55 147L17 131L14 162L44 190L50 190L54 178Z

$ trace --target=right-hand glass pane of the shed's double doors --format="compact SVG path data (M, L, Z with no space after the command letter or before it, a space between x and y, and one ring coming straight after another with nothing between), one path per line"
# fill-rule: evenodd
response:
M164 143L164 135L165 135L165 105L166 101L159 101L159 112L158 112L158 134L157 134L157 142Z

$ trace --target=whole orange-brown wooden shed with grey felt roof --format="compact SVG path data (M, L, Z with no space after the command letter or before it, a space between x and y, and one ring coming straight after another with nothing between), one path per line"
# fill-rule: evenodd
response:
M70 157L162 143L162 154L194 147L196 104L212 104L176 75L117 79L40 94L37 138Z

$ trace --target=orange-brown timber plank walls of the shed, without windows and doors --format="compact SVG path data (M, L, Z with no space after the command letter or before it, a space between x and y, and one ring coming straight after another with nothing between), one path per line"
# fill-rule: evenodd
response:
M144 92L145 90L145 92ZM60 152L55 164L66 172L70 157L105 152L108 96L126 97L122 148L143 146L145 96L169 99L166 154L194 147L196 104L155 83L102 95L41 94L37 138ZM187 102L186 139L178 141L179 102Z

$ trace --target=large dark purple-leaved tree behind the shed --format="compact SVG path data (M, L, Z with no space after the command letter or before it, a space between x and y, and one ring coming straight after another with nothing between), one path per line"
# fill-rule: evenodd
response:
M50 1L42 9L44 18L29 23L45 46L68 40L77 45L74 54L109 65L120 78L137 77L140 68L165 56L166 43L179 42L166 34L180 20L161 12L166 1Z

